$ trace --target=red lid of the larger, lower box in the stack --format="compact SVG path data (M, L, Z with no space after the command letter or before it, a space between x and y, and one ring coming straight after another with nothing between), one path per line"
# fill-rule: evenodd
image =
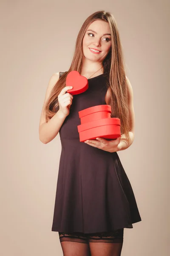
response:
M77 128L78 128L78 132L81 132L91 128L103 126L103 125L119 125L120 126L120 119L116 117L111 117L111 118L95 120L82 125L78 125Z

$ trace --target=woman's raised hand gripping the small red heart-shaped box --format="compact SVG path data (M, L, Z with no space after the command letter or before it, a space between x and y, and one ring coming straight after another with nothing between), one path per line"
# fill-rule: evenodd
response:
M73 96L70 93L66 93L71 90L72 86L65 86L58 95L59 112L68 116L70 113L70 107L72 104Z

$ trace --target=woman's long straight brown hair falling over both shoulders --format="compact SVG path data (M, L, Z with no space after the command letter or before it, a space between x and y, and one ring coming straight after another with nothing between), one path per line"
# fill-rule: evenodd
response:
M122 52L122 44L120 41L119 30L116 25L116 20L110 12L99 11L90 15L83 23L77 36L75 51L71 66L54 85L51 94L45 105L45 118L48 119L54 116L59 110L58 95L62 88L66 86L66 77L69 72L76 70L81 73L82 68L82 40L88 26L94 20L104 20L108 22L111 29L111 50L103 60L103 69L106 76L106 83L110 91L109 105L111 105L111 117L118 117L121 122L121 134L125 134L127 141L130 137L130 117L128 110L127 99L127 81L125 75L124 57Z

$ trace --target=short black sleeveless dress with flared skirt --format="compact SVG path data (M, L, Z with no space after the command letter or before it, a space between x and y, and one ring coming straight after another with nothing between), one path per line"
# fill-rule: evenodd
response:
M60 72L62 75L64 72ZM79 141L79 111L105 105L104 74L88 79L88 90L73 96L60 130L61 156L52 231L109 232L141 221L130 181L117 152Z

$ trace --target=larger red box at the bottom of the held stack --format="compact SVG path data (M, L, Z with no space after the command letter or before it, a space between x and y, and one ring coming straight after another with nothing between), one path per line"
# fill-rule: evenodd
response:
M80 142L96 140L97 137L113 140L121 136L119 118L95 120L83 125L78 125L77 128Z

